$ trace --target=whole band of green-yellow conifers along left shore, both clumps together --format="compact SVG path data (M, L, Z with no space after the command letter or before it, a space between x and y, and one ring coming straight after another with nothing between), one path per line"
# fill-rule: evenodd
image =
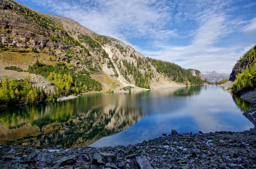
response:
M90 73L86 71L74 72L64 63L56 66L39 63L29 66L29 73L43 75L55 86L53 91L46 93L43 88L33 86L29 76L16 80L5 76L0 82L0 104L11 105L19 103L35 103L56 100L60 96L70 94L81 94L87 91L100 91L101 84L91 79Z

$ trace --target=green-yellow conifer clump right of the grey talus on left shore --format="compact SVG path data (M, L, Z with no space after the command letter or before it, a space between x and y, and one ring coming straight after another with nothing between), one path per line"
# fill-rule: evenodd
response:
M57 63L55 66L39 63L38 60L33 66L28 66L28 72L40 74L47 78L58 89L56 96L81 94L87 91L101 91L101 84L91 79L90 73L84 71L75 72L64 63Z

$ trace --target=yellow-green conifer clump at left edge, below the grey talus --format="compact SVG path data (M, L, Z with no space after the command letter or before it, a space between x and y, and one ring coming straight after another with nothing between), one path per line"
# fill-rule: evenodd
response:
M43 88L32 86L29 80L29 76L20 80L16 80L14 77L10 80L8 76L4 76L4 80L0 82L0 104L8 106L56 99L53 92L47 94Z

